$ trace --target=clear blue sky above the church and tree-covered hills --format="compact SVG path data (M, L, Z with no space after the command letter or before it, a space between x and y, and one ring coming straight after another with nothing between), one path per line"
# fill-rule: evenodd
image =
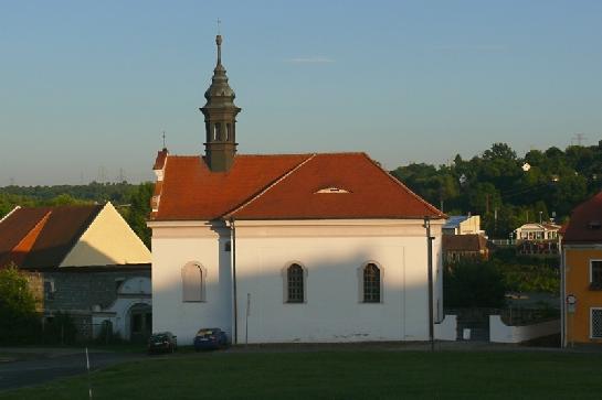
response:
M602 139L598 0L0 0L0 186L150 180L163 130L203 152L218 18L242 153Z

